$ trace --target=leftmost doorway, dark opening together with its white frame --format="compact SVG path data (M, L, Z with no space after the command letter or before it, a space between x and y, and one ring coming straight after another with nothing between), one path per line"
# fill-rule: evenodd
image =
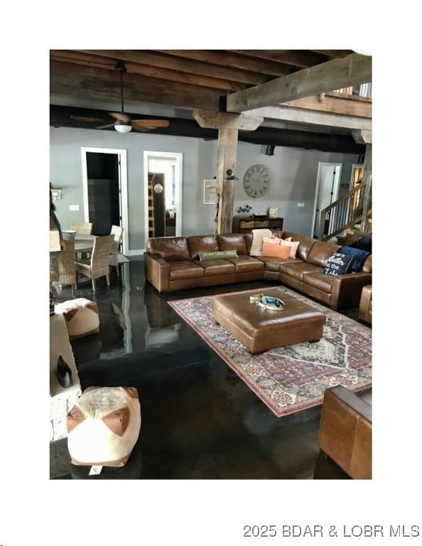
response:
M127 254L126 150L82 148L81 153L85 222L92 222L94 235L108 235L112 225L121 226L121 252Z

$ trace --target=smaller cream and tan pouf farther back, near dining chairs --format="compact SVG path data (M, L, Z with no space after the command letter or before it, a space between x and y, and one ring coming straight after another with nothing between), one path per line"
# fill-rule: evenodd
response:
M98 306L90 299L77 298L55 305L55 312L65 317L70 341L99 333Z

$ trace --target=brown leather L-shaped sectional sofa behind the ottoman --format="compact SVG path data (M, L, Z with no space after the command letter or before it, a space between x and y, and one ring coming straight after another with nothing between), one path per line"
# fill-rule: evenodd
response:
M332 309L359 306L362 287L372 284L372 256L360 272L333 276L324 273L325 262L340 245L288 231L274 235L299 241L296 258L250 256L252 233L151 237L144 253L146 280L163 292L272 279ZM224 250L236 250L238 257L201 261L198 254Z

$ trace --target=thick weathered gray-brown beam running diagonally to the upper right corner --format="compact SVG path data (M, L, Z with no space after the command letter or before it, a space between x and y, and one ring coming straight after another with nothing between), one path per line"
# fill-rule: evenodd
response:
M227 112L245 112L372 81L372 58L352 53L227 96Z

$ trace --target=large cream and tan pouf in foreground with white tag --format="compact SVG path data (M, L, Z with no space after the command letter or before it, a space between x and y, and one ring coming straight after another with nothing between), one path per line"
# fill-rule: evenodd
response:
M67 414L72 464L124 466L141 430L134 387L88 387Z

